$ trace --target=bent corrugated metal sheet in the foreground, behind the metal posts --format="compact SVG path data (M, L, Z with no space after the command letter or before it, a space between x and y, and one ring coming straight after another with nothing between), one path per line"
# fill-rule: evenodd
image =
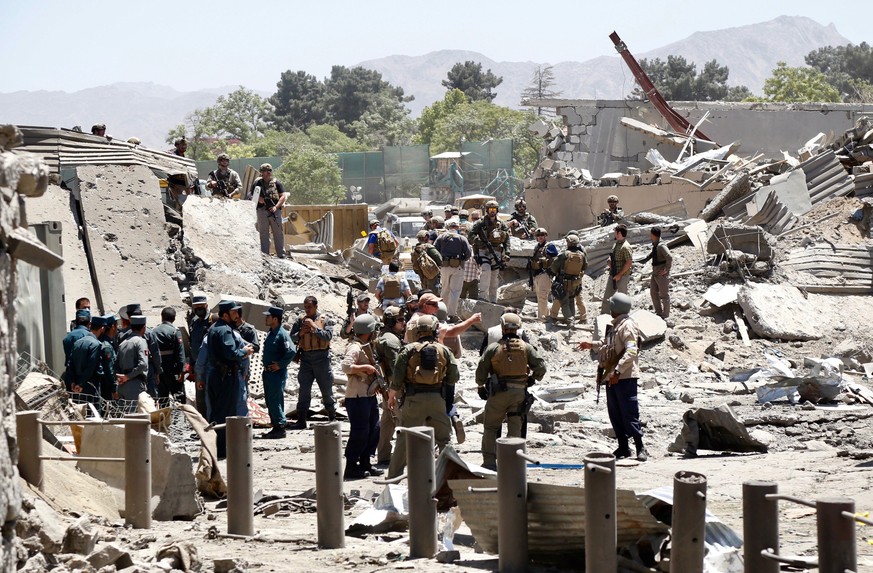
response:
M473 493L468 487L494 482L450 480L449 486L473 537L488 553L497 553L497 493ZM631 490L616 491L618 544L628 545L668 527L656 520ZM578 487L528 484L528 543L534 559L554 559L585 548L585 490Z

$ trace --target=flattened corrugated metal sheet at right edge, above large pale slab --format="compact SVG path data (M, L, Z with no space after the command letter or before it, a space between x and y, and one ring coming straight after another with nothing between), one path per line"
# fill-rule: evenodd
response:
M795 283L808 292L873 293L873 247L816 243L790 251L780 265L820 279Z

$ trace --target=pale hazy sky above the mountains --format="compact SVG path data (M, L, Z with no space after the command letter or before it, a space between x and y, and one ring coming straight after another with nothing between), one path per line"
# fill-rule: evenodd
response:
M783 14L833 23L854 43L868 39L857 10L820 0L0 0L0 92L118 81L273 91L284 70L323 78L333 64L440 49L555 64L614 54L613 30L640 53Z

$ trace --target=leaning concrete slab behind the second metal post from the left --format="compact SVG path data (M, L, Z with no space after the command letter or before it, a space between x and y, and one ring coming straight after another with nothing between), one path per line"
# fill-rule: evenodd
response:
M200 513L191 457L170 449L167 438L152 432L152 517L159 521L193 519ZM124 427L84 426L82 456L124 457ZM118 507L124 507L124 464L78 462L83 472L112 488Z

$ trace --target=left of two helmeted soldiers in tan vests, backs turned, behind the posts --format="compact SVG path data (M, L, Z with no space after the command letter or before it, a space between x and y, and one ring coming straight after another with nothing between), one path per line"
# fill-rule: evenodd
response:
M399 411L398 426L431 426L436 444L442 451L451 438L448 412L454 402L455 384L460 374L452 351L436 342L438 331L439 321L435 316L421 316L416 321L413 342L400 351L394 364L388 407L394 412ZM403 403L398 405L401 394ZM399 476L406 467L405 446L406 437L399 437L391 454L389 478Z

